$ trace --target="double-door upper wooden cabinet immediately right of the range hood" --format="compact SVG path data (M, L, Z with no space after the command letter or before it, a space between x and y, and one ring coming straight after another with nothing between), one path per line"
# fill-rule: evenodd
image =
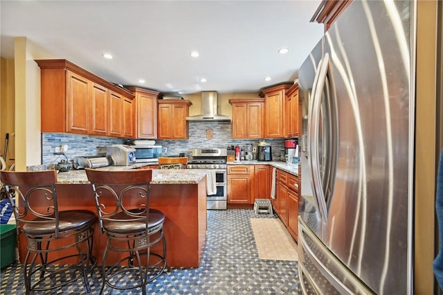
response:
M264 98L230 99L233 138L262 138Z

